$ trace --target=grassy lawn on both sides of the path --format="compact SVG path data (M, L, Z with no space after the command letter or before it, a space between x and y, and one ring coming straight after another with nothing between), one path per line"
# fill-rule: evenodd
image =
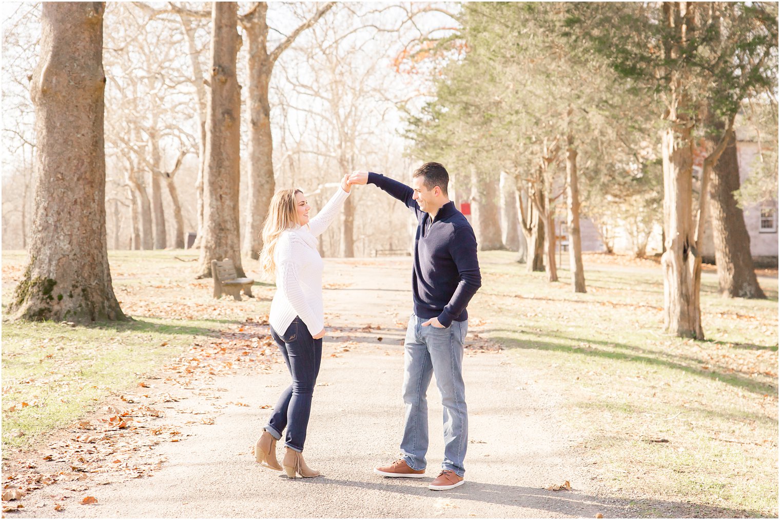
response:
M768 300L729 300L704 272L707 340L693 341L661 332L663 283L651 261L586 258L588 293L576 294L565 268L561 282L547 283L514 257L480 253L483 287L470 313L527 368L532 381L518 384L564 396L559 415L576 432L567 440L587 461L589 487L636 501L640 516L777 516L776 275L760 280ZM193 342L268 312L268 284L256 283L257 299L214 300L211 280L194 279L188 251L109 258L134 321L3 323L4 453L68 426ZM4 310L24 259L3 252ZM259 279L257 262L244 262Z

